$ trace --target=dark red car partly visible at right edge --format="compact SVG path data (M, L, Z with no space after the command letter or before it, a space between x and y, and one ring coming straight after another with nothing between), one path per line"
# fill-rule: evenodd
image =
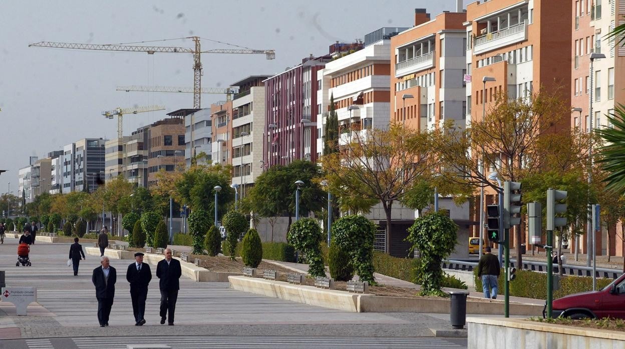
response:
M602 290L557 298L552 304L552 316L574 320L605 317L625 319L625 274Z

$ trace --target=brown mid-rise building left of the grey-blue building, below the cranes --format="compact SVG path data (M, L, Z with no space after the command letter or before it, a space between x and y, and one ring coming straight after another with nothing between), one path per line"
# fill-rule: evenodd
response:
M184 161L184 118L171 117L154 122L148 130L148 187L158 182L163 169L173 172ZM180 164L178 164L180 161Z

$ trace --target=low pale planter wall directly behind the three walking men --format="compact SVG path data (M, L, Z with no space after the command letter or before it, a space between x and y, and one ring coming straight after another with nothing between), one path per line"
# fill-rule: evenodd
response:
M84 250L84 252L88 255L100 255L100 249L98 247L86 247ZM111 259L134 260L134 251L111 250L110 248L106 248L104 250L104 255ZM158 262L164 258L165 257L163 255L157 255L156 253L145 253L143 261L151 265L157 265ZM178 257L175 258L180 260ZM183 261L180 261L180 268L183 271L184 277L199 282L228 282L229 276L242 275L242 273L211 272L202 267L197 267L194 263Z

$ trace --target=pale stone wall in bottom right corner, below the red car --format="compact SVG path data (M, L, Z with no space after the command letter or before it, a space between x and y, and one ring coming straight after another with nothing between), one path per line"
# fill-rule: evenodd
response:
M625 348L625 332L510 318L467 318L468 349Z

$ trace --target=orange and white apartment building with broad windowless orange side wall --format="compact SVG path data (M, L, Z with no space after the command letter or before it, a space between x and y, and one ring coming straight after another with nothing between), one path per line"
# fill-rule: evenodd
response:
M572 7L570 1L546 0L491 0L467 6L467 125L482 118L484 103L488 109L497 92L524 98L539 88L553 92L571 84L572 18L563 14L572 13ZM565 93L562 98L571 97ZM561 127L570 127L570 121L562 120ZM485 204L494 202L494 193L486 194ZM479 210L473 218L479 219ZM511 247L527 242L526 234L521 235L516 241L511 234Z

